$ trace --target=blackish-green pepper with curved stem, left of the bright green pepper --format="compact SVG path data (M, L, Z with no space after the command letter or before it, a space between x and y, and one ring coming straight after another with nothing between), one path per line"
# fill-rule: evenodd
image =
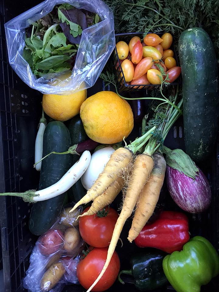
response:
M128 274L134 277L134 285L140 291L157 289L168 283L163 272L162 261L165 253L156 249L146 249L144 252L135 254L130 259L130 270L123 270L119 273L118 280L121 280L121 274Z

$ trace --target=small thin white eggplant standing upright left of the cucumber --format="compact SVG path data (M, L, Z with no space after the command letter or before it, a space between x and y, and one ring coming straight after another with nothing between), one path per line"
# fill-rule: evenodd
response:
M39 123L39 129L36 135L36 141L35 141L35 163L38 162L43 157L43 134L46 128L47 121L44 117L44 111L42 113L42 117L40 119ZM35 169L37 171L41 170L42 162L40 161L35 165Z

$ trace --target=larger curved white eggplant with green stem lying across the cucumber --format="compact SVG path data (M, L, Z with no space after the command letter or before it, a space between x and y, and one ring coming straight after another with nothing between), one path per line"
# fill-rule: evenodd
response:
M64 176L54 185L47 187L46 189L28 190L24 193L0 193L0 196L19 196L22 197L25 202L39 202L45 201L56 196L59 196L70 189L71 186L81 178L91 160L91 154L88 150L82 153L80 159L64 174Z

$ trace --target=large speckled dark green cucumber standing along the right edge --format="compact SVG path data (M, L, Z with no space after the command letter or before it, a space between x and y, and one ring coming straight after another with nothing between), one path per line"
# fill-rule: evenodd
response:
M196 162L210 156L218 129L217 60L209 35L201 28L179 37L186 153Z

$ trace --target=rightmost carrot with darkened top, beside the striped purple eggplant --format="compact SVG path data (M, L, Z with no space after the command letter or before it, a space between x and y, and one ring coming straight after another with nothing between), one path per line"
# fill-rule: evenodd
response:
M142 228L153 214L164 182L166 170L165 159L163 155L159 153L155 153L153 157L155 160L155 166L151 172L150 179L145 184L137 202L137 208L128 235L128 240L130 242L139 235Z

